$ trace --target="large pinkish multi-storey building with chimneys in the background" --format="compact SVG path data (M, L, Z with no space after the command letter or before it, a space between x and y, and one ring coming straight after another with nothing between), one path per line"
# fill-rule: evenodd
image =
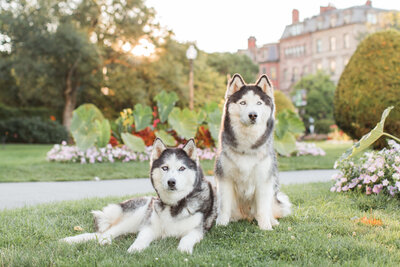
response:
M294 9L292 24L285 27L279 43L258 48L255 38L250 37L248 49L239 52L248 53L259 65L260 73L271 77L271 67L277 68L274 85L287 94L302 76L317 71L324 71L337 83L359 42L367 34L387 28L385 14L393 12L398 14L374 8L367 1L365 5L346 9L320 7L318 15L300 21L299 11ZM271 46L278 51L274 60L263 57Z

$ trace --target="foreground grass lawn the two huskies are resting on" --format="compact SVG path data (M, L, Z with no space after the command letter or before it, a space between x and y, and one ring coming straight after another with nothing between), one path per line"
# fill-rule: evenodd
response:
M0 212L0 266L399 266L399 201L382 196L337 194L329 183L283 187L294 205L273 231L241 221L214 227L181 254L173 238L155 241L141 254L126 250L135 236L100 246L57 242L93 231L92 209L124 198L89 199ZM358 223L375 216L383 226Z

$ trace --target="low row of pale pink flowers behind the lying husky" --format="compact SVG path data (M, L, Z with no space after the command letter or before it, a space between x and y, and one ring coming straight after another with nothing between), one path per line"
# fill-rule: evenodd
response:
M77 146L68 146L65 141L61 145L54 145L47 153L48 161L75 162L75 163L102 163L102 162L130 162L146 161L150 159L152 147L146 147L144 153L133 152L126 146L113 147L108 144L106 147L91 147L86 151L80 151ZM215 157L215 149L197 149L201 160L212 160Z

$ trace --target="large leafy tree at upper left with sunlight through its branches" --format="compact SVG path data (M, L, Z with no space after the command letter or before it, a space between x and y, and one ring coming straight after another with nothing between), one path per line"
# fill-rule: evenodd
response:
M124 45L133 47L140 38L157 41L154 12L142 0L12 0L0 10L19 100L63 107L67 129L78 93L89 88L100 93L104 67L135 68ZM119 75L108 75L114 74Z

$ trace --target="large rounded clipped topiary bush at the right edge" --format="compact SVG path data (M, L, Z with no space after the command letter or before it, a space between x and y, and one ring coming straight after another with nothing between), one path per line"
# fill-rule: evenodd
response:
M400 33L382 31L357 47L335 92L335 120L352 138L375 127L383 110L395 106L385 132L400 135ZM376 147L384 145L381 139Z

